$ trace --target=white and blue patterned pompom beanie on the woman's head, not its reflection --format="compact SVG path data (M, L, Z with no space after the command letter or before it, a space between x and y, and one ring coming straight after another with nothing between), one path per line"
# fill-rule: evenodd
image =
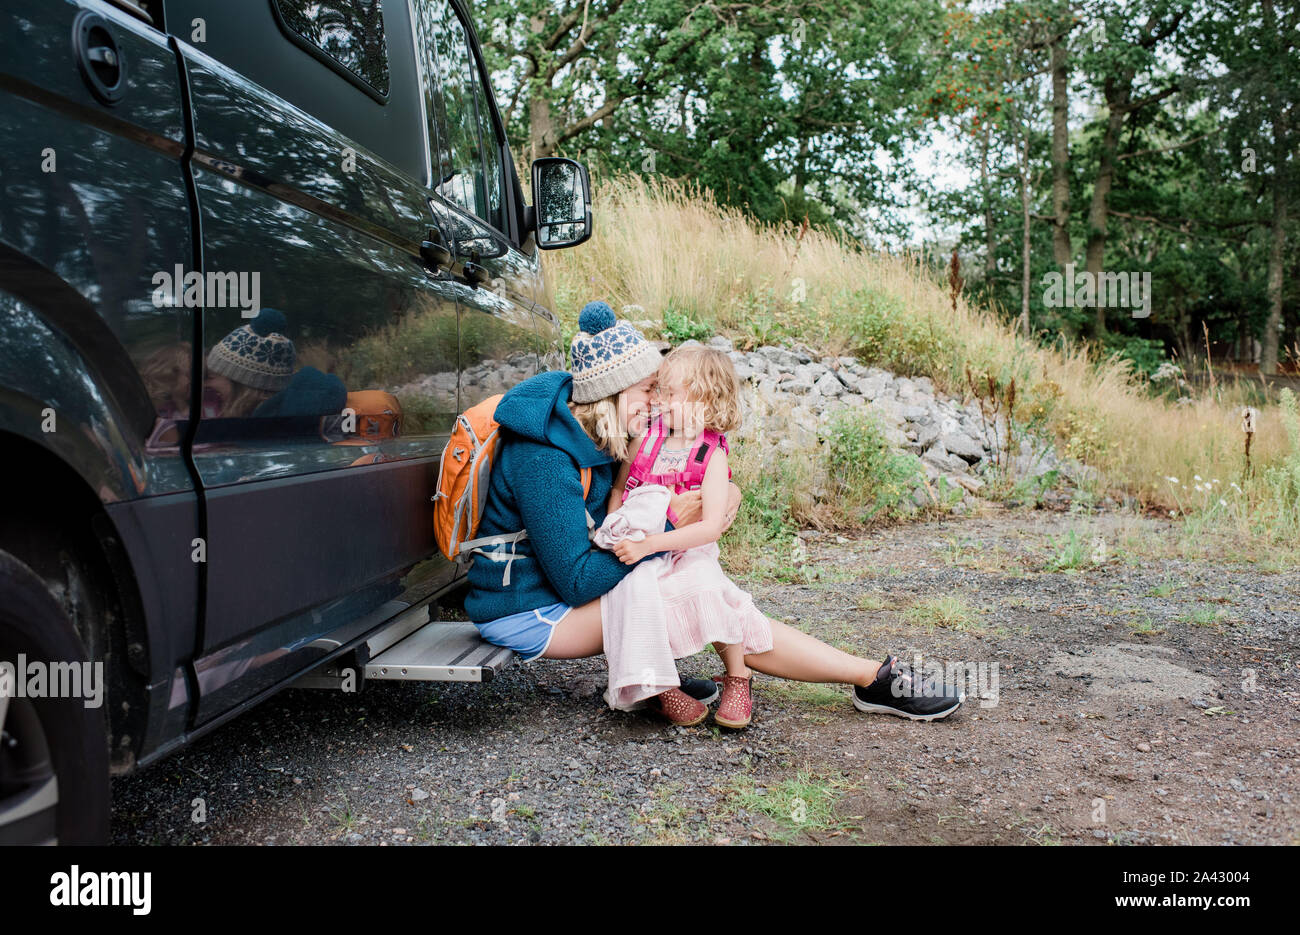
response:
M593 403L621 393L659 369L663 355L603 302L588 302L569 346L573 402Z

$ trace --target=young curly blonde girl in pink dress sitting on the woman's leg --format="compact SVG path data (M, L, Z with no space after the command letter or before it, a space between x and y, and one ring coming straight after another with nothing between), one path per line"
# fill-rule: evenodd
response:
M692 345L670 352L658 375L660 412L651 416L632 460L624 462L610 494L610 512L644 484L670 490L699 489L702 516L681 529L624 538L614 546L627 564L670 551L659 577L673 655L681 658L707 644L727 667L714 719L724 727L746 727L753 715L749 653L772 648L767 616L749 593L719 564L718 538L727 512L727 432L741 423L740 378L722 351ZM670 510L668 519L676 521Z

